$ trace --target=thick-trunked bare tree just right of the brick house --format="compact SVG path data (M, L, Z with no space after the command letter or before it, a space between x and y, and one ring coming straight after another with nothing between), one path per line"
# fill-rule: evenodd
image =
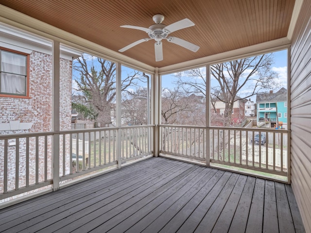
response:
M112 123L112 112L116 98L116 64L103 58L83 54L74 61L73 69L78 74L76 91L81 92L85 102L96 112L96 121L101 127ZM121 90L135 85L140 79L134 70L121 81Z

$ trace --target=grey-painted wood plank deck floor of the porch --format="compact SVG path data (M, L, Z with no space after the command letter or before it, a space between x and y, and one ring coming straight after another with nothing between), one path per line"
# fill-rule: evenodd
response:
M301 233L290 185L151 158L0 210L0 232Z

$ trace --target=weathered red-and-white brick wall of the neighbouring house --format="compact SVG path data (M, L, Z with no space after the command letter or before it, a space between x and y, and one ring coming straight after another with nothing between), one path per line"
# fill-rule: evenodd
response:
M61 59L60 71L60 128L71 128L71 77L72 62ZM29 99L0 97L0 123L19 120L20 122L34 122L26 131L0 131L0 134L47 132L52 130L52 56L33 51L29 64ZM52 138L48 138L47 164L48 179L51 179ZM29 140L29 183L35 183L35 138ZM26 182L26 139L19 141L19 186ZM62 147L60 148L62 150ZM66 139L66 173L69 172L69 138ZM0 141L0 161L3 161L4 141ZM39 138L39 182L44 181L45 147L44 137ZM16 174L16 146L8 148L8 190L15 188ZM60 151L60 167L62 167ZM3 163L0 164L0 191L3 191ZM62 168L60 169L62 173Z

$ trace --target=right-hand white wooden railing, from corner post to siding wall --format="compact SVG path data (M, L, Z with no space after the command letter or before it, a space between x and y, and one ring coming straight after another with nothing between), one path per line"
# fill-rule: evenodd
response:
M162 156L274 174L289 182L287 130L160 125L159 132ZM260 135L259 141L263 139L261 134L265 135L263 145L255 144L256 134Z

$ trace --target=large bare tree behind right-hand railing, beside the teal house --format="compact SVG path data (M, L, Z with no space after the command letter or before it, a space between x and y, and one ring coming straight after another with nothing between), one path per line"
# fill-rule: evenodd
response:
M215 102L225 103L224 126L231 124L231 114L235 101L247 99L256 94L263 93L267 89L276 89L277 73L272 70L273 54L243 58L230 62L216 64L210 67L211 84L210 100L211 106L216 113ZM205 95L206 80L201 69L185 71L178 74L177 84L181 85L187 93ZM243 94L242 90L248 92Z

